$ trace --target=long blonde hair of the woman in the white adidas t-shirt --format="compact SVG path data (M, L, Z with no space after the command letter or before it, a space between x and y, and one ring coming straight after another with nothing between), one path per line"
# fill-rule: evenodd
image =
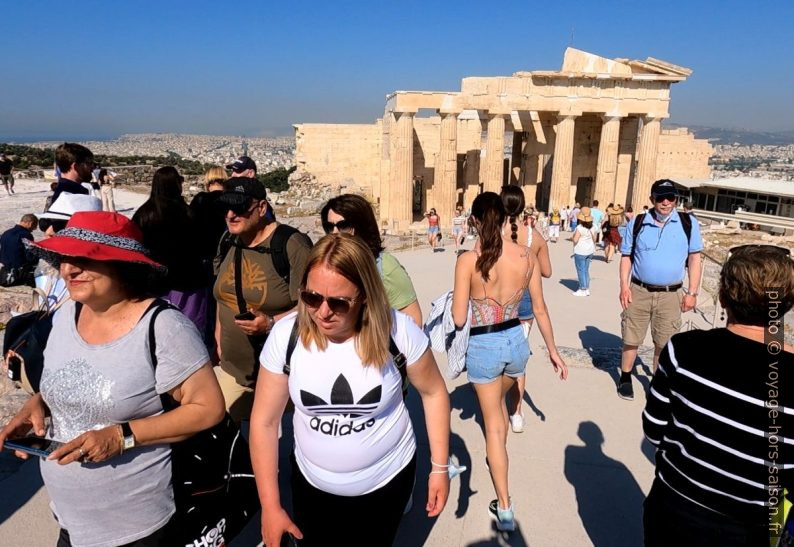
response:
M309 272L320 266L338 273L358 288L361 308L355 326L356 353L364 366L382 367L389 359L392 314L372 251L358 237L328 234L312 248L302 288L306 288ZM321 351L328 347L328 339L312 321L303 301L298 302L298 323L303 347L308 348L312 342Z

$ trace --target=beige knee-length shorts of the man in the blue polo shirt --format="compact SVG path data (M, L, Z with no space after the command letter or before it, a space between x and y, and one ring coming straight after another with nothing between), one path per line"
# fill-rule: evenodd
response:
M657 348L664 347L670 337L681 330L681 299L683 291L651 292L631 284L631 304L621 314L623 343L640 346L651 325L651 339Z

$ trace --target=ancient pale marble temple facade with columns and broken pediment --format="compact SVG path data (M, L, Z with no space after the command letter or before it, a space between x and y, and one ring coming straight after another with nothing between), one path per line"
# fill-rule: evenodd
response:
M559 71L464 78L460 91L396 91L374 124L299 124L298 173L354 186L404 230L434 207L519 185L527 204L648 204L657 178L708 178L711 146L661 129L670 86L692 73L568 48Z

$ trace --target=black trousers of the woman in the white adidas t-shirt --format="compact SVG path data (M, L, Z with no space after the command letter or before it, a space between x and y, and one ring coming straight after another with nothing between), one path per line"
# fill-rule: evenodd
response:
M292 461L292 508L303 532L300 547L345 545L388 547L414 487L416 454L392 480L363 496L337 496L318 490Z

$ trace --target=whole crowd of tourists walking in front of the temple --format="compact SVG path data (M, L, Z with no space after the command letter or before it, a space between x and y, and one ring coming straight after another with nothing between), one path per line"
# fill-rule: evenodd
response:
M249 473L235 477L255 480L265 545L391 545L416 481L427 483L424 511L434 518L456 469L450 399L431 350L439 338L447 376L465 371L483 418L488 511L498 530L514 531L507 438L524 429L534 322L554 374L568 377L542 284L552 274L548 245L567 231L577 296L589 295L600 240L607 261L620 253L622 398L633 398L637 347L651 329L655 374L642 421L657 456L646 545L766 540L767 388L754 365L766 352L765 291L780 288L779 311L788 311L794 262L779 247L736 249L720 279L727 327L676 334L697 302L702 241L696 219L678 212L672 181L654 183L653 208L636 217L597 201L541 215L515 186L481 193L468 214L459 207L450 219L459 255L453 286L424 317L361 196L329 200L319 219L326 235L313 242L277 219L247 156L210 169L206 191L190 203L180 173L158 169L132 219L101 193L108 171L97 173L101 195L90 195L90 150L66 143L56 164L47 211L23 216L0 238L0 277L12 272L38 287L51 321L42 359L21 345L4 355L38 380L26 384L31 398L0 432L0 448L31 433L57 441L41 471L59 547L185 544L183 519L196 507L178 495L176 458L219 424L241 428L250 442ZM426 217L435 249L442 219L434 209ZM469 230L476 242L465 250ZM793 348L781 349L781 368L791 368ZM426 440L405 404L409 386ZM780 407L794 404L788 393L780 398ZM285 413L294 437L286 458ZM429 462L418 462L420 443ZM788 487L792 467L782 467ZM287 469L291 507L279 490ZM232 539L226 524L206 528L196 541Z

